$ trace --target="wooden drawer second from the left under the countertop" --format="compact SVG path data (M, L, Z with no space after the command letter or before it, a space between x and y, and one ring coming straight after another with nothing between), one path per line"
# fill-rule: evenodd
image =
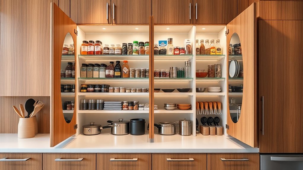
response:
M43 170L95 170L95 153L43 153Z

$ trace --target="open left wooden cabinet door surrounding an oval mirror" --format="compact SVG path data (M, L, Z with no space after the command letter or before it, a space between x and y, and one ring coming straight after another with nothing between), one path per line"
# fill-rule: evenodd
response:
M70 111L71 119L66 121L66 116L63 114L63 99L61 96L61 84L75 84L76 86L76 82L75 78L74 80L72 78L61 78L61 69L62 67L65 69L67 62L72 62L73 64L75 62L76 52L74 55L65 56L63 55L62 47L63 44L67 43L66 37L68 37L69 43L74 43L74 47L77 47L77 35L75 34L77 26L55 3L52 3L51 8L51 147L53 147L76 133L74 128L76 125L76 109L74 109L74 112ZM66 83L61 82L62 80L66 81ZM75 95L69 96L67 100L75 101ZM75 108L76 103L75 101Z

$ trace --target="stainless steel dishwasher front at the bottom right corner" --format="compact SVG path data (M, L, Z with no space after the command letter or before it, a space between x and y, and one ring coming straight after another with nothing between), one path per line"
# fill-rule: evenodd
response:
M261 155L261 170L302 170L303 155Z

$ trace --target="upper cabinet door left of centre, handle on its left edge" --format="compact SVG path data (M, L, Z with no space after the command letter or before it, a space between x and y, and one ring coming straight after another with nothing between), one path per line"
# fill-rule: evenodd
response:
M112 0L113 24L148 24L151 15L149 0Z

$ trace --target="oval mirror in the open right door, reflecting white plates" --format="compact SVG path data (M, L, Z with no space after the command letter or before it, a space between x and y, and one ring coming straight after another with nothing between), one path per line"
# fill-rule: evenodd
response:
M228 58L228 96L231 120L237 123L242 107L243 98L243 57L240 38L237 33L231 36Z

